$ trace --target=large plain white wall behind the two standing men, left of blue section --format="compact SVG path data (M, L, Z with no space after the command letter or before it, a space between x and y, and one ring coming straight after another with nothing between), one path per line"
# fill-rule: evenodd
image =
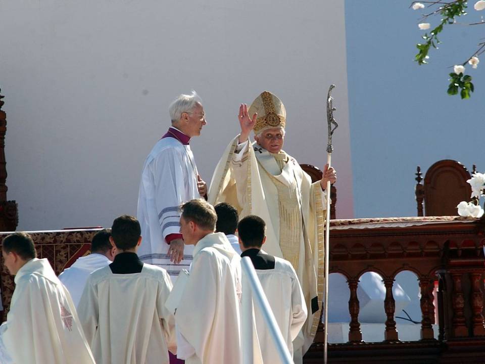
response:
M3 0L0 52L19 230L135 214L168 105L192 88L209 124L191 145L209 182L238 131L238 105L264 89L285 104L284 149L322 167L336 83L337 215L352 217L343 0Z

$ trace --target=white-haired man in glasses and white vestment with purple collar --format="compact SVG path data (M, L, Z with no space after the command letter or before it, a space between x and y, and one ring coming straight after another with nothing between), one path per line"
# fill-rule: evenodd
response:
M159 265L174 278L192 261L192 247L180 235L180 206L206 196L207 185L197 169L190 139L207 124L202 100L195 91L180 95L169 107L172 125L153 147L141 173L137 217L143 262Z

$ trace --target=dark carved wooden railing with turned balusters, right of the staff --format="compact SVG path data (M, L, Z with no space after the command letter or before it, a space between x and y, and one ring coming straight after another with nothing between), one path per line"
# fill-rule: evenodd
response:
M329 344L329 362L482 363L485 362L483 321L483 244L485 220L457 216L333 220L330 272L349 284L349 341ZM395 322L393 284L403 270L419 281L421 340L401 342ZM367 271L383 279L382 309L387 320L384 341L364 343L359 323L359 278ZM439 282L438 305L432 291ZM329 293L331 294L331 292ZM435 309L439 316L434 339ZM305 363L321 362L323 325Z

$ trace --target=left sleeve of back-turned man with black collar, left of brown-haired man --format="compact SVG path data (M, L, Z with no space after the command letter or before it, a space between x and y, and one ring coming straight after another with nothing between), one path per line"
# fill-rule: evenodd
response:
M77 314L86 341L92 347L94 335L96 330L98 330L100 310L98 305L98 290L92 284L91 277L89 276L84 286L84 291L79 300Z

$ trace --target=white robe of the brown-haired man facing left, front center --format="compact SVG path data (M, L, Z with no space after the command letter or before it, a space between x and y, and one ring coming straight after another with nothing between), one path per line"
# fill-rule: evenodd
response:
M240 257L223 233L209 234L193 250L193 262L175 323L186 364L239 364L241 271Z

